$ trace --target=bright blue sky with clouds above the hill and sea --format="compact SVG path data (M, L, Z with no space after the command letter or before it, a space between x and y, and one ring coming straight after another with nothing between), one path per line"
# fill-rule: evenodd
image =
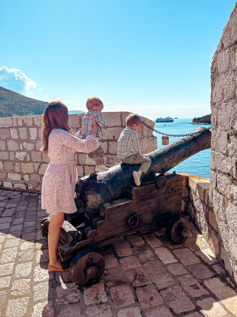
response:
M85 111L155 119L210 113L210 67L235 1L11 1L0 10L0 86Z

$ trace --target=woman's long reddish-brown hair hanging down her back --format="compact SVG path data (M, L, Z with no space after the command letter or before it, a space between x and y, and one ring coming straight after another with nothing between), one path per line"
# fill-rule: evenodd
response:
M68 108L61 101L52 101L45 108L41 118L42 143L40 151L45 155L48 152L49 134L53 129L63 129L75 135L68 125Z

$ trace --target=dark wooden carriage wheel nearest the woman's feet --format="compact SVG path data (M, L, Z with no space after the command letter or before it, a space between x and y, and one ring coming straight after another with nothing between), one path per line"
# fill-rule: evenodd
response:
M93 249L85 249L76 253L70 263L73 280L82 286L92 285L98 281L105 269L105 260Z

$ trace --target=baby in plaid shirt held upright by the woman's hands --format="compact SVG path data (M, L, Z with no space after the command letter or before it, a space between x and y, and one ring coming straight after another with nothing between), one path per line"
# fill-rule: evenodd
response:
M99 125L99 128L96 133L96 137L98 139L102 139L102 129L106 128L108 126L108 123L106 120L102 118L101 111L104 107L103 102L98 97L90 97L87 99L86 107L89 110L87 113L85 113L83 118L83 125L80 130L81 139L84 140L88 135L91 134L92 128L93 128L93 120L95 118L96 122ZM95 165L95 171L96 172L104 172L108 171L108 167L106 167L104 163L104 150L101 147L101 145L93 152L90 152L87 154L86 157L86 163L90 165Z

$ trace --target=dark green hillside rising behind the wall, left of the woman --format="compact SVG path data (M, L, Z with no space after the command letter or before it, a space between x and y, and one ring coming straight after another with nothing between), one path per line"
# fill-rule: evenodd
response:
M48 102L28 98L0 86L0 117L14 114L25 116L28 113L42 114Z

